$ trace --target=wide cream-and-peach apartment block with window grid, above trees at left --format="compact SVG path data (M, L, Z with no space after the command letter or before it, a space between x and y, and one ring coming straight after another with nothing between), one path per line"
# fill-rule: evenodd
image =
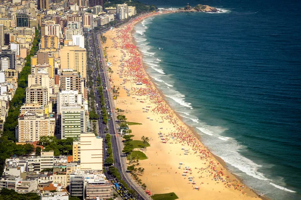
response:
M55 118L25 113L18 118L18 141L39 141L41 136L54 136Z

